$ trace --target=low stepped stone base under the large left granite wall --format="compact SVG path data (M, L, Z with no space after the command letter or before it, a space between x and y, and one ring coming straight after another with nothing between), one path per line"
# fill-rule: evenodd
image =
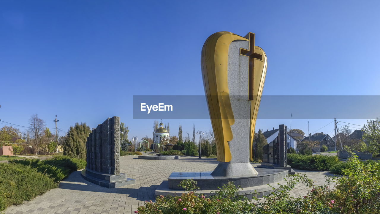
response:
M82 177L87 181L93 184L97 184L101 187L115 188L129 184L136 184L136 179L127 178L127 175L125 173L111 175L101 174L99 172L94 172L89 169L83 169L81 174Z

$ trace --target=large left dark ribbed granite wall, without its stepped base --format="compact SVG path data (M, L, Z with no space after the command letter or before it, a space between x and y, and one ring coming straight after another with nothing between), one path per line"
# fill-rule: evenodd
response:
M86 142L86 169L120 174L120 117L108 118L92 129Z

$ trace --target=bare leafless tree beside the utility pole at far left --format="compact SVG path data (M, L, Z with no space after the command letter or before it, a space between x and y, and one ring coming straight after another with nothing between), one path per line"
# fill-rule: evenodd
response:
M32 115L29 119L29 133L32 137L32 145L35 154L38 153L38 146L42 141L44 135L45 121L38 118L38 115Z

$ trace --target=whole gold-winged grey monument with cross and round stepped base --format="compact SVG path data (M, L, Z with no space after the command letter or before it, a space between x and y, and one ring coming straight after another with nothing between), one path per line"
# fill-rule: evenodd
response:
M284 183L284 169L254 168L253 134L263 91L267 57L255 46L255 34L245 37L217 32L207 38L201 53L201 69L219 164L212 172L173 172L156 190L156 195L183 192L184 179L198 182L200 191L211 195L233 181L239 195L261 197ZM181 192L182 191L182 192Z

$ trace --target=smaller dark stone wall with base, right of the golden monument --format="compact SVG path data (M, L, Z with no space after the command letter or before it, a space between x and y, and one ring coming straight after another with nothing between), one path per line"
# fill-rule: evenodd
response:
M288 165L286 146L287 126L279 125L278 136L269 144L263 147L262 168L287 169L289 174L295 174L291 166Z

